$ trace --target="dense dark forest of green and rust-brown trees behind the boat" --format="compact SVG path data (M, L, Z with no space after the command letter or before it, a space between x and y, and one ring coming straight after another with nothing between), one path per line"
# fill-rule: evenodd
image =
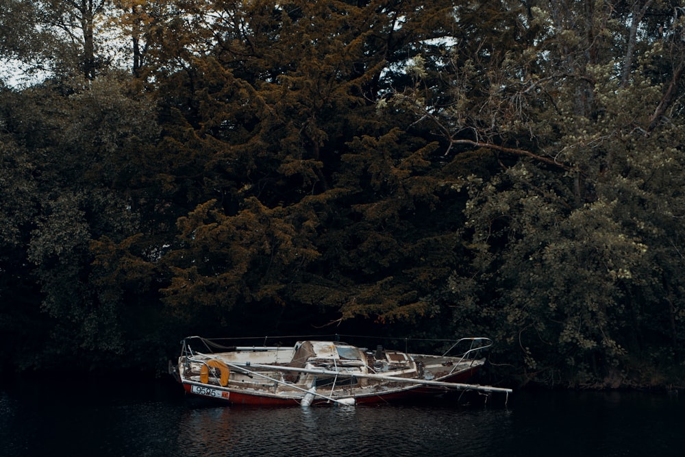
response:
M3 371L371 332L682 385L681 0L0 0L0 59Z

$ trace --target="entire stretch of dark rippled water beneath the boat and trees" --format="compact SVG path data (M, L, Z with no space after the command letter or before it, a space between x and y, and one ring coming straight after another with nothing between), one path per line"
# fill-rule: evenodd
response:
M0 456L685 456L685 403L514 393L508 406L245 408L166 381L0 388Z

